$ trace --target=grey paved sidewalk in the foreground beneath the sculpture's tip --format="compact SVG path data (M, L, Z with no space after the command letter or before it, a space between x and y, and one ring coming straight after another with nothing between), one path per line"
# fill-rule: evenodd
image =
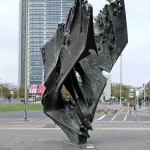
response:
M95 130L86 144L74 145L59 128L0 130L0 150L149 150L150 132Z

